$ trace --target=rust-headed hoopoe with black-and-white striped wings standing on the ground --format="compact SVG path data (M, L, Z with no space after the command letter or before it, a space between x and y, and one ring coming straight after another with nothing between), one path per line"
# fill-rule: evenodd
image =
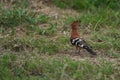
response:
M86 43L86 41L80 37L78 33L78 26L80 25L81 21L74 21L71 24L71 37L70 41L73 46L76 47L76 50L78 50L78 53L80 53L80 49L87 50L90 54L96 55L96 53L89 47L89 45Z

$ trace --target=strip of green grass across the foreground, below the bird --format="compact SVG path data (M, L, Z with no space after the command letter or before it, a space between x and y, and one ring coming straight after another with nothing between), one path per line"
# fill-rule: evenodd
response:
M88 60L73 61L68 57L50 58L45 56L33 56L33 59L31 58L32 56L26 60L22 60L23 62L19 64L18 57L12 53L2 56L0 68L4 68L4 70L2 70L0 74L1 79L119 79L116 74L116 67L118 66L114 67L114 63L104 59L99 59L99 61L94 64Z

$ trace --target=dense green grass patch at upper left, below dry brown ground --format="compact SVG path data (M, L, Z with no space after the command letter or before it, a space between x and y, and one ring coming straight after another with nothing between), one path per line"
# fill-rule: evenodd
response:
M7 29L11 29L11 33L15 34L17 27L26 27L30 30L35 30L35 26L42 23L47 23L49 17L47 15L39 14L35 16L34 12L25 9L2 9L0 15L1 31L5 33ZM50 28L49 28L50 29Z

